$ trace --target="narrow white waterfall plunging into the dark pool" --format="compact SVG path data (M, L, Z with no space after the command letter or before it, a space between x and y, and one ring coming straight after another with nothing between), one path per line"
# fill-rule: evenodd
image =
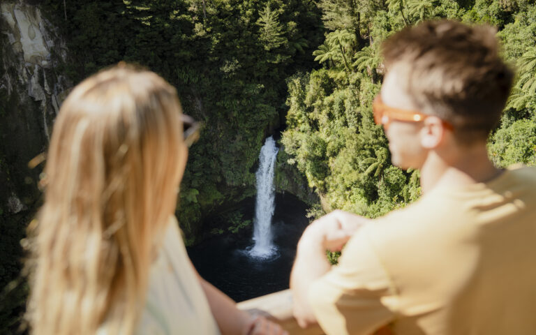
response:
M276 141L271 136L266 139L260 149L259 170L257 170L257 202L255 204L255 220L253 241L255 245L249 254L257 258L269 258L276 252L272 244L271 217L274 215L274 170L277 151Z

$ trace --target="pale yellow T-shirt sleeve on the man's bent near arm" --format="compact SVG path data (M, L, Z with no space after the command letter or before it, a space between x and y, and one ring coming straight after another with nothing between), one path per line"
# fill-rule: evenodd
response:
M395 318L396 289L368 241L367 230L359 230L338 265L308 288L308 305L328 335L370 335Z

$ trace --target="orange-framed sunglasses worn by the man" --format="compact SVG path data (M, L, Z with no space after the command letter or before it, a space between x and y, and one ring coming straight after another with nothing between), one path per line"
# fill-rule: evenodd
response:
M391 121L404 121L404 122L419 122L423 121L431 115L424 114L417 110L403 110L401 108L395 108L387 106L383 103L380 94L376 96L372 103L372 110L374 114L374 122L378 125L383 125L383 128L387 130ZM452 130L452 124L442 120L443 125L446 128Z

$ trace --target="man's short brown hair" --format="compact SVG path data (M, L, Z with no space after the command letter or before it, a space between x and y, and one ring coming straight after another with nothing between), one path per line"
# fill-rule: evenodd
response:
M496 30L440 20L407 27L382 45L384 64L408 66L415 105L454 126L459 142L482 140L496 126L512 85Z

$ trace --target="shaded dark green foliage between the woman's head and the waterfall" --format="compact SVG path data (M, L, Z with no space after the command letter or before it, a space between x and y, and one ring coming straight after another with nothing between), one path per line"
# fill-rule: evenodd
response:
M190 151L177 212L187 239L224 202L254 192L265 134L285 112L285 79L315 66L320 10L290 0L46 0L67 36L77 82L118 61L141 64L177 88L184 111L204 121Z

